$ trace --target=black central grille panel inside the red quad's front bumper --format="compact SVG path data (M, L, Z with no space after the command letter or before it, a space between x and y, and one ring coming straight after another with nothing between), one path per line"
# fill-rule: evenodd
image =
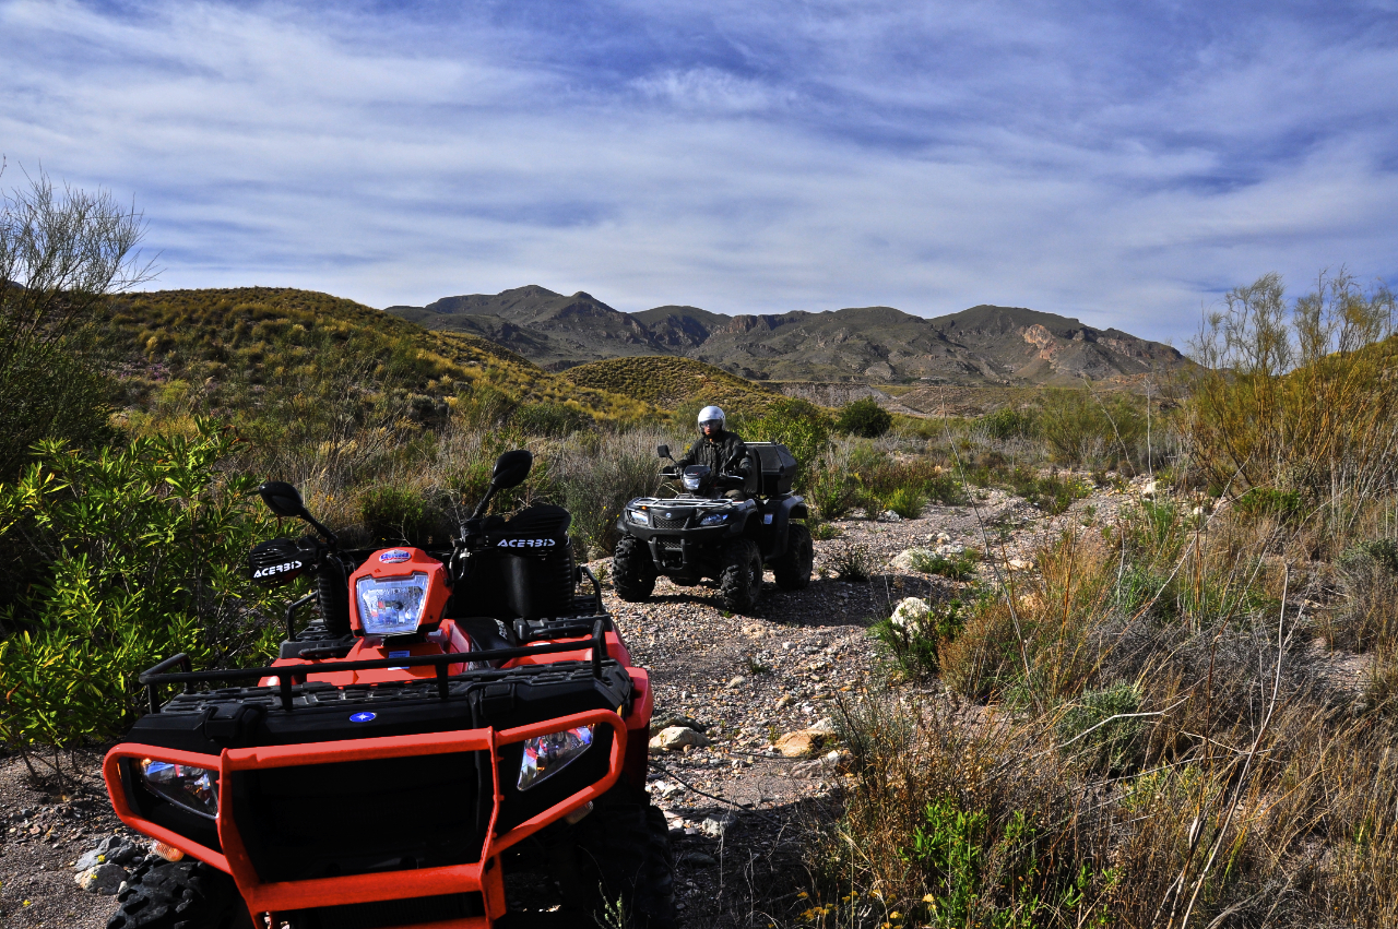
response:
M477 862L478 752L239 771L231 807L264 882Z

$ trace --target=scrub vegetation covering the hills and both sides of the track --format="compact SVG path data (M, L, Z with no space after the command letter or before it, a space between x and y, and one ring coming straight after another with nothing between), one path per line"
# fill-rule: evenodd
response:
M36 770L119 733L136 672L166 654L268 657L278 617L242 571L278 531L261 479L351 542L433 543L527 447L502 504L569 507L579 555L605 557L622 503L660 490L656 444L686 444L719 401L793 450L816 538L991 489L1037 504L1048 538L1009 571L987 525L983 550L914 564L955 597L870 617L886 680L843 697L842 812L812 827L805 895L773 922L1398 921L1387 291L1339 274L1289 300L1269 275L1205 320L1186 381L913 419L688 359L549 374L323 295L126 293L138 222L109 207L39 184L0 231L0 386L69 391L63 416L4 412L24 444L0 472L0 739ZM110 247L45 251L64 215ZM84 231L91 215L109 222ZM1141 476L1111 518L1075 506ZM881 570L856 548L836 567Z

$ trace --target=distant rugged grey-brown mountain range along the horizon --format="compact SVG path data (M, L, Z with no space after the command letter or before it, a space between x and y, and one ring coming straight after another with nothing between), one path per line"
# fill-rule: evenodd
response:
M530 285L390 306L435 331L480 335L549 370L636 355L709 362L752 380L1069 384L1190 365L1174 348L1025 307L927 319L891 306L727 316L693 306L624 313Z

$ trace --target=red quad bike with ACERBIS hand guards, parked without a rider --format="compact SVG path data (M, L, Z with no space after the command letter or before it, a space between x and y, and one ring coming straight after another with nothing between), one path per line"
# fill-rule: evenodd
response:
M500 455L439 550L343 549L291 485L260 488L316 535L254 548L253 578L313 590L271 666L175 655L140 676L150 712L103 777L164 847L109 929L580 926L618 905L626 925L674 925L668 830L644 792L649 676L573 564L566 510L484 515L531 461ZM510 912L505 876L526 870L554 882L555 914Z

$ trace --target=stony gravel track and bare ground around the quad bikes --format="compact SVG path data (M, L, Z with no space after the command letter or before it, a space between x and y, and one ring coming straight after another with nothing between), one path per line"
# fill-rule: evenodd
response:
M942 577L891 566L895 556L914 546L988 548L1001 570L1025 570L1044 534L1089 514L1110 521L1138 492L1103 489L1054 520L998 490L974 506L930 507L916 520L842 520L836 538L816 542L811 587L784 592L769 580L745 616L721 609L712 585L661 580L646 604L622 602L608 588L607 605L633 659L651 672L653 732L686 728L703 739L681 740L707 743L653 752L649 788L671 826L682 925L766 926L769 914L790 912L807 883L802 838L837 812L840 759L822 733L840 700L884 679L868 624L906 597L955 595ZM840 580L850 559L864 560L872 578ZM591 567L603 573L607 562ZM777 743L801 756L787 757ZM3 925L96 928L113 911L113 897L74 880L82 852L124 833L106 800L99 759L64 754L64 780L48 784L29 777L20 759L0 760Z

